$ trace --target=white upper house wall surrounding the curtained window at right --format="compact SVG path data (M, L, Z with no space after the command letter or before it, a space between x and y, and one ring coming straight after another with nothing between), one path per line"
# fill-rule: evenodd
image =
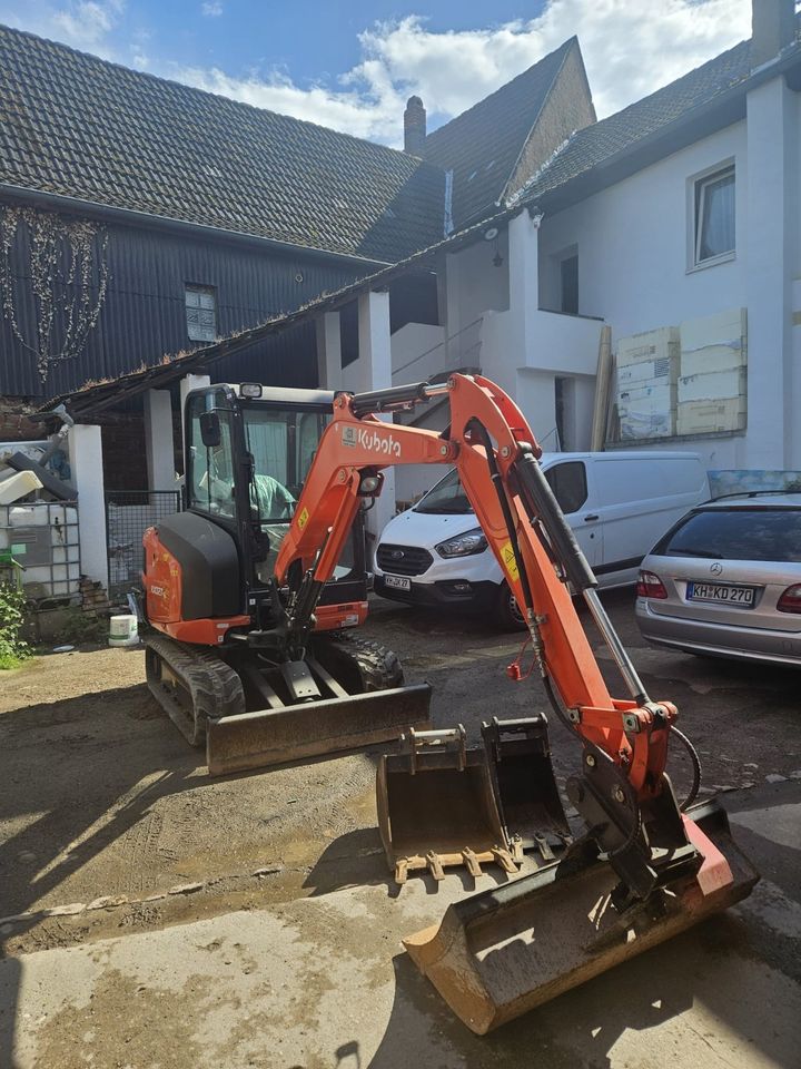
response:
M541 303L556 303L560 253L577 246L580 311L604 316L613 346L629 334L748 308L748 429L686 441L709 467L801 464L801 374L793 366L801 344L792 326L801 306L793 290L801 267L800 114L798 95L781 79L769 81L749 95L746 120L546 216L540 227ZM693 268L693 178L731 160L734 258Z

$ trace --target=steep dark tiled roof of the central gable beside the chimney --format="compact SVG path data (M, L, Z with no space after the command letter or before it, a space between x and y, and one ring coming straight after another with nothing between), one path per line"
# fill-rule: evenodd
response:
M425 158L453 170L453 218L458 228L491 214L571 48L555 52L428 135Z

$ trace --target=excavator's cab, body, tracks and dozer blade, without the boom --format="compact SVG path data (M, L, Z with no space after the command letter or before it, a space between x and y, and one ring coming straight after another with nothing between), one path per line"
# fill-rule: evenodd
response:
M427 686L402 687L395 655L353 634L367 615L360 512L314 604L298 601L300 568L274 578L333 400L258 383L186 400L186 508L145 534L146 668L187 739L206 743L210 773L428 726Z

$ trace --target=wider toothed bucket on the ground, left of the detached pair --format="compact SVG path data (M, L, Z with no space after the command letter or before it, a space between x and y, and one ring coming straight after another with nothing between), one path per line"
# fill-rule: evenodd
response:
M481 875L483 863L517 871L501 824L484 751L465 729L412 730L400 753L385 754L376 777L378 830L396 883L414 870L435 880L449 865Z

